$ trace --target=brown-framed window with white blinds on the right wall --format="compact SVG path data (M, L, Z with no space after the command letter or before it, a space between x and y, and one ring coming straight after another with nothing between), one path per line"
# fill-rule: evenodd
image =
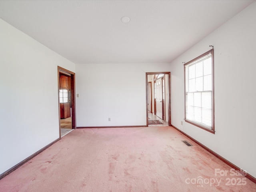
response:
M184 64L185 121L214 133L214 50Z

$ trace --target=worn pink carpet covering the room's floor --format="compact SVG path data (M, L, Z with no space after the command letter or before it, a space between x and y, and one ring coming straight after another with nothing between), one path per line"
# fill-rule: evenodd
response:
M0 191L256 192L230 169L172 127L76 129L2 178Z

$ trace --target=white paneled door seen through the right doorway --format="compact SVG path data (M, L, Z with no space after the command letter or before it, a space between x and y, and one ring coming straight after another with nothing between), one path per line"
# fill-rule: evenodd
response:
M156 80L156 116L159 118L163 118L163 86L162 86L162 78Z

